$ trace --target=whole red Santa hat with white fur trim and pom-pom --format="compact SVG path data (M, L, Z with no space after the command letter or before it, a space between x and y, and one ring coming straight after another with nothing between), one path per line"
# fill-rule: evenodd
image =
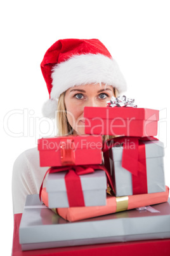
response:
M55 118L58 97L74 85L105 83L119 93L126 82L110 52L98 39L61 39L45 53L41 71L49 99L42 108L45 117Z

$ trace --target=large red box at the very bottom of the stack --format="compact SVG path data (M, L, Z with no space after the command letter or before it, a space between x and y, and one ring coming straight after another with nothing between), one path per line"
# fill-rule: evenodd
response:
M150 253L154 256L169 256L170 239L152 239L143 241L129 241L125 243L102 243L94 245L69 246L60 248L43 248L39 250L22 251L19 244L19 226L22 213L14 215L13 246L11 256L103 256L103 255L127 255L143 256Z

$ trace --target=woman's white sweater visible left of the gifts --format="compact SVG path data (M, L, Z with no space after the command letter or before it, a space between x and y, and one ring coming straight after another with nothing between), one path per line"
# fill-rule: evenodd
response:
M13 165L13 213L22 213L28 194L39 194L44 174L49 167L39 166L39 151L30 148L21 153Z

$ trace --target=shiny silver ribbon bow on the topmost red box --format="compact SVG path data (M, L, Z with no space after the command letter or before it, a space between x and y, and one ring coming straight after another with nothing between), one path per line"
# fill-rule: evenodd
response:
M107 101L107 106L114 108L117 107L133 107L137 108L137 105L133 104L134 99L126 98L126 96L114 97L112 96L110 101Z

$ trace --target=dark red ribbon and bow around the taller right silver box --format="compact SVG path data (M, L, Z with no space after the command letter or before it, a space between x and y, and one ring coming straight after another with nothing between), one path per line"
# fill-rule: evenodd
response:
M113 146L123 146L122 167L132 174L133 195L148 193L146 152L143 141L154 140L158 139L121 136L105 141L103 145L105 166L108 170L110 170L108 150ZM133 147L129 146L131 143L133 143Z

